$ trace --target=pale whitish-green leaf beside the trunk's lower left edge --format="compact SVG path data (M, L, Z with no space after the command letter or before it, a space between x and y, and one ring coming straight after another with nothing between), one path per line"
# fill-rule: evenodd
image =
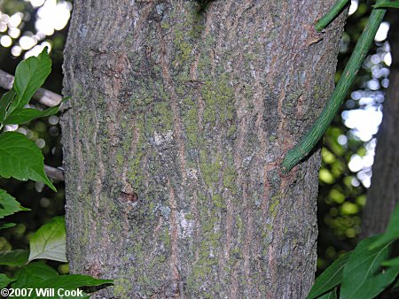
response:
M65 219L63 217L51 219L49 223L37 230L29 245L29 261L47 258L54 261L67 262Z

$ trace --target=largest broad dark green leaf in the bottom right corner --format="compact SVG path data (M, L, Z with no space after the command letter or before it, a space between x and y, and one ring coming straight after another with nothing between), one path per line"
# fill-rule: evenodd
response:
M381 262L388 257L389 245L370 250L370 244L379 236L364 239L352 251L343 271L340 298L368 299L387 288L395 280L396 271L389 268L381 271Z

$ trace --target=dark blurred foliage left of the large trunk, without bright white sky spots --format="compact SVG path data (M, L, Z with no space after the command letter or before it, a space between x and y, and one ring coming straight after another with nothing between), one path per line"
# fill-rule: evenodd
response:
M37 34L38 30L35 27L35 21L38 19L38 10L42 6L34 7L32 3L40 4L40 1L0 0L0 21L3 24L7 19L10 20L12 16L22 14L20 24L17 26L20 29L20 36L12 39L12 46L10 47L0 45L0 69L7 73L15 73L16 66L28 51L22 50L20 55L15 57L12 55L12 47L20 44L20 39L23 36L34 36ZM57 2L55 3L57 4ZM8 16L8 18L5 16ZM11 26L10 22L8 22L6 30L0 32L0 36L9 34L10 30ZM66 33L67 27L64 27L62 30L54 31L53 35L46 35L42 41L36 42L36 45L47 42L44 45L48 46L50 44L51 46L52 69L43 87L59 94L61 94L62 88L62 50L64 49ZM1 94L4 92L5 90L0 90ZM35 105L40 106L38 103L35 103ZM46 107L42 106L40 108ZM36 119L27 126L20 126L19 131L27 134L27 137L42 149L46 165L55 167L61 165L60 128L57 116ZM51 191L50 188L44 187L41 182L13 179L0 180L0 188L7 190L9 194L18 198L24 207L31 209L31 211L16 213L7 218L9 221L17 223L17 226L0 231L0 251L29 249L29 240L39 227L51 221L53 217L65 214L64 183L60 181L54 181L53 183L58 190L57 193ZM66 263L49 261L48 264L58 269L59 273L69 272ZM5 272L15 271L13 266L3 266L3 268L5 268L2 269Z

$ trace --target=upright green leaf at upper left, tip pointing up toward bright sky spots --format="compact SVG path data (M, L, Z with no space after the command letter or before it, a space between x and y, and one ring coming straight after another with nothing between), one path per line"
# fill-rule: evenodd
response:
M15 80L12 89L17 94L10 106L10 112L23 108L29 103L35 91L40 88L44 80L51 73L51 59L44 48L38 57L30 57L20 62L15 71Z

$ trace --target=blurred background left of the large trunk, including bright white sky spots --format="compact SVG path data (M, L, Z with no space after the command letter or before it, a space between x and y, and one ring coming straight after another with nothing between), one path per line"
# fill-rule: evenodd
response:
M37 55L47 46L51 50L52 72L44 88L61 94L62 51L71 11L72 2L69 1L0 0L0 69L14 74L20 60ZM4 91L0 88L0 94ZM57 116L32 121L28 126L8 126L6 129L27 134L43 150L46 165L61 165L61 136ZM0 180L0 188L17 198L22 206L32 210L7 217L7 221L17 226L0 231L0 251L29 249L29 238L40 226L54 216L65 214L64 184L54 181L54 185L57 193L43 187L42 182ZM68 272L67 265L51 261L47 263L56 267L60 273ZM12 272L13 269L6 267L2 270Z

